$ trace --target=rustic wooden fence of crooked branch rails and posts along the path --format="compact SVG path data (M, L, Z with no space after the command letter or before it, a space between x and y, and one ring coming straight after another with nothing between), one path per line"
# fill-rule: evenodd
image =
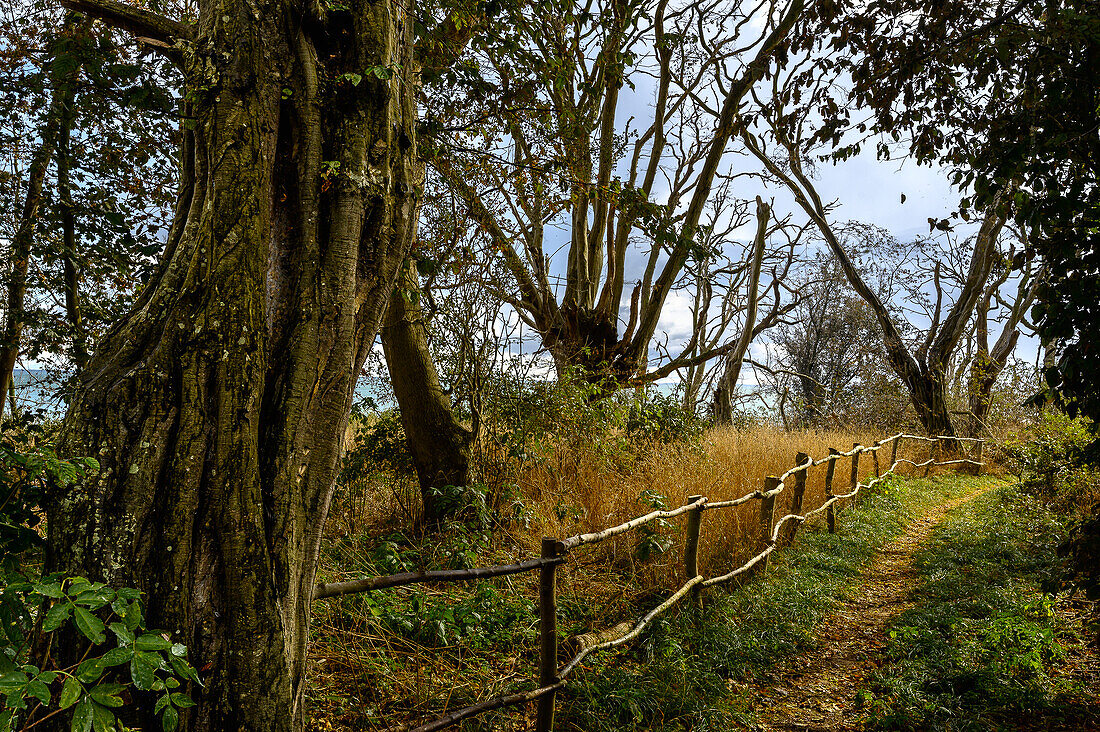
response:
M902 440L915 440L931 444L932 452L936 447L947 443L975 444L974 451L969 458L955 458L950 460L937 461L935 457L923 462L915 462L898 457L898 447ZM653 621L663 613L671 610L685 599L697 603L701 591L705 588L717 584L725 584L739 577L748 577L763 572L768 567L768 557L777 549L791 546L794 542L799 527L810 518L822 513L826 516L826 526L829 533L836 533L836 504L839 501L854 499L861 490L870 490L875 485L883 482L888 477L894 474L897 468L903 463L912 466L914 469L925 469L925 474L933 467L941 466L969 466L974 474L980 474L982 462L982 447L985 440L980 438L965 438L954 436L923 437L920 435L898 434L878 440L871 446L853 445L847 452L835 449L829 450L827 457L814 460L804 452L799 452L795 465L781 476L769 476L765 479L763 488L747 493L740 498L710 502L705 495L691 495L688 503L679 509L652 511L642 516L612 526L600 532L576 534L566 538L558 539L547 537L542 539L541 556L528 559L515 565L501 565L495 567L479 567L474 569L448 569L420 572L402 572L384 577L370 577L348 582L319 583L315 587L314 599L333 598L358 592L370 592L386 588L402 587L418 583L435 582L457 582L482 580L494 577L505 577L520 572L539 572L539 678L538 688L530 691L522 691L506 696L494 697L485 701L464 707L449 712L430 722L419 726L407 724L391 728L387 732L432 732L442 730L459 722L485 713L491 710L502 709L515 704L536 701L538 704L536 717L537 732L551 732L554 717L554 696L564 688L569 676L576 670L582 660L600 651L606 651L623 646L639 635L641 635ZM891 447L890 467L880 470L879 451ZM955 450L953 450L954 452ZM859 482L859 458L860 455L871 456L875 477L866 483ZM847 490L844 493L834 493L833 485L836 473L836 465L839 460L851 459L851 472L848 480ZM826 465L825 473L825 501L822 505L812 511L803 513L803 496L806 487L806 474L810 468ZM788 481L791 484L788 485ZM776 520L776 499L783 491L791 490L791 513ZM756 548L756 554L747 559L739 567L716 577L705 578L698 572L698 546L700 532L702 528L703 514L706 511L729 509L748 503L749 501L760 501L760 540ZM668 599L650 610L636 623L620 623L609 631L588 633L574 636L565 644L565 647L575 652L572 658L559 666L560 638L558 633L558 599L557 599L557 568L565 561L569 553L578 547L598 544L608 538L625 534L654 521L663 521L678 516L686 516L684 531L684 575L689 579Z

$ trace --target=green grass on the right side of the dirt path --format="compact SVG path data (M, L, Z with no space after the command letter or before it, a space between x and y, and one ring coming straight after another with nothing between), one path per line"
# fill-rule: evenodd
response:
M1012 485L952 512L917 555L917 604L861 695L867 729L1094 729L1097 710L1052 674L1080 642L1041 591L1063 536L1063 520Z

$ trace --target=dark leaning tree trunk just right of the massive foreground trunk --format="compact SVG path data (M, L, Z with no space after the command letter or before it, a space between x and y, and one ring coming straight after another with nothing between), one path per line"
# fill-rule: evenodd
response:
M439 383L439 373L428 349L424 317L420 280L409 261L389 297L382 347L402 411L405 438L420 480L422 521L433 524L446 511L437 501L439 489L470 483L474 433L454 416L451 401Z

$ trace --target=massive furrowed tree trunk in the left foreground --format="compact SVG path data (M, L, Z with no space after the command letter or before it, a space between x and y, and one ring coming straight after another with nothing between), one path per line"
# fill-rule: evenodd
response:
M61 449L102 469L50 496L48 568L179 630L205 669L183 729L300 729L321 531L421 185L408 11L204 1L193 30L70 2L190 39L189 108L161 266L65 418Z

